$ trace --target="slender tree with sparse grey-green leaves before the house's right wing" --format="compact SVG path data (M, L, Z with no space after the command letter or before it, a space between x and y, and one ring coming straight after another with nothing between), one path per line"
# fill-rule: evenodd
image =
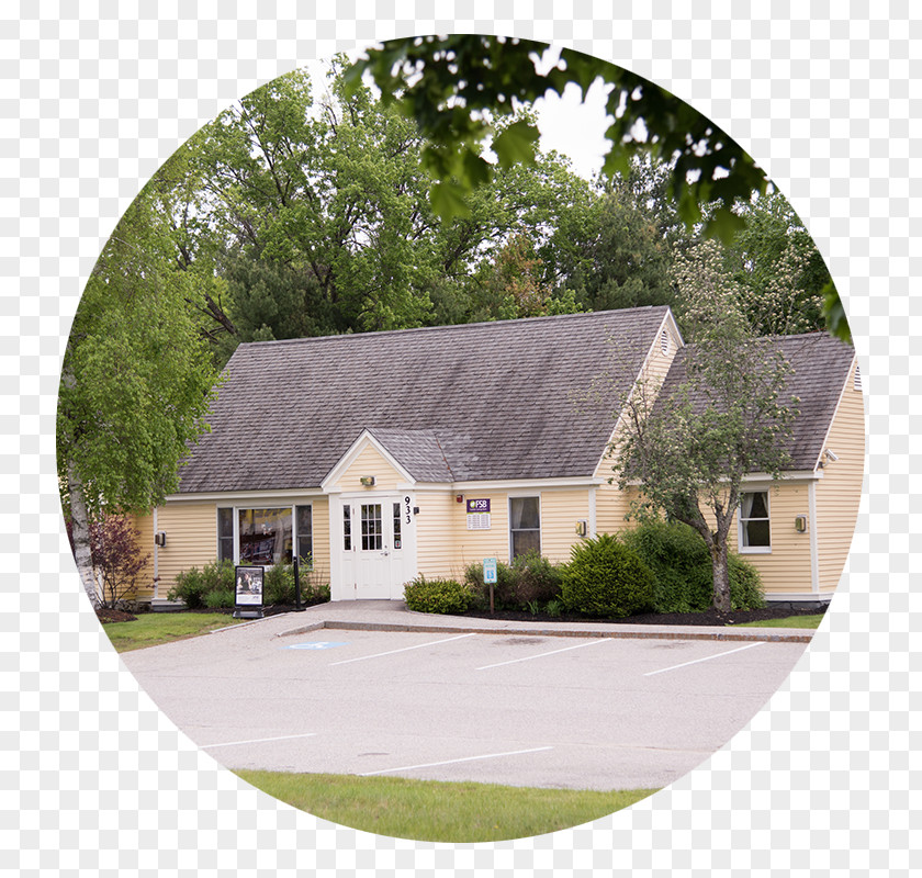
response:
M727 538L747 474L779 479L798 399L785 394L790 365L771 338L755 337L717 248L677 257L675 282L692 345L665 383L640 382L610 449L631 515L693 527L713 565L713 606L729 612Z

